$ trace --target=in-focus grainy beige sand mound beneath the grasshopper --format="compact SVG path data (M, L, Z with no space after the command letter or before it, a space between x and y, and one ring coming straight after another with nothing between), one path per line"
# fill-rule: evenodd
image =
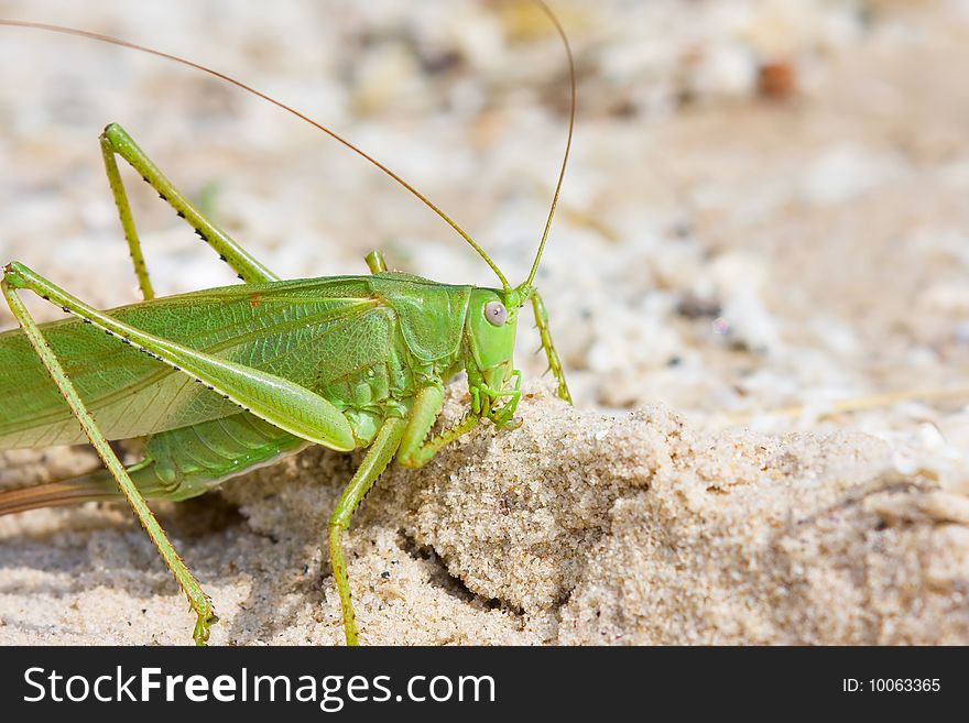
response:
M364 501L348 552L366 642L969 643L969 499L902 474L884 442L705 434L544 387L521 409L522 429L482 427ZM163 515L216 599L215 643L339 640L320 546L353 463L308 450L228 483L241 517L211 501ZM188 640L123 512L0 521L0 642Z

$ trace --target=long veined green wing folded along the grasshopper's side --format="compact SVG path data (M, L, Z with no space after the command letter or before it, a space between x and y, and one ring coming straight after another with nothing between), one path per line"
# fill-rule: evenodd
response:
M395 314L370 276L228 286L109 314L190 349L308 388L380 361ZM368 329L361 340L356 330ZM45 338L108 439L220 419L239 408L80 319L43 325ZM0 449L85 441L20 331L0 333Z

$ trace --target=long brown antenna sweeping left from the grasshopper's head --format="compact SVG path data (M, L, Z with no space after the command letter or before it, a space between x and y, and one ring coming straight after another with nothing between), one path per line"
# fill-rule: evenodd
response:
M546 12L548 10L546 8ZM558 23L556 22L556 24L558 24ZM172 55L171 53L165 53L163 51L156 51L153 47L146 47L144 45L139 45L138 43L130 43L128 41L124 41L124 40L121 40L118 37L111 37L110 35L101 35L100 33L92 33L90 31L79 30L77 28L67 28L65 25L52 25L48 23L37 23L37 22L32 22L32 21L26 21L26 20L7 20L3 18L0 18L0 25L7 25L8 28L28 28L31 30L42 30L42 31L46 31L46 32L51 32L51 33L62 33L64 35L75 35L77 37L86 37L88 40L94 40L94 41L98 41L101 43L109 43L111 45L127 47L132 51L139 51L140 53L148 53L149 55L155 55L157 57L165 58L166 61L172 61L173 63L178 63L181 65L188 66L189 68L195 68L196 70L200 70L202 73L207 73L208 75L215 76L216 78L219 78L220 80L225 80L226 83L229 83L229 84L236 86L237 88L241 88L246 92L250 92L253 96L257 96L258 98L261 98L261 99L265 100L266 102L270 102L273 106L276 106L277 108L282 108L286 112L292 113L296 118L298 118L298 119L309 123L314 128L323 131L324 133L326 133L327 135L329 135L334 140L339 141L345 146L350 149L353 153L362 156L363 158L366 158L367 161L372 163L374 166L377 166L378 168L383 171L383 173L385 173L388 176L390 176L391 178L396 180L401 186L403 186L404 188L410 190L414 196L416 196L418 199L421 199L421 201L423 201L425 206L427 206L432 211L437 213L440 218L443 218L448 223L448 226L450 226L455 231L457 231L460 234L460 237L465 241L467 241L475 251L478 252L478 254L484 260L484 262L489 266L491 266L491 271L493 271L498 275L498 278L501 281L502 286L504 286L504 288L509 288L509 283L508 283L508 280L504 277L504 274L501 273L501 270L494 264L493 261L491 261L491 259L488 256L488 254L484 253L484 250L481 249L481 247L479 247L475 242L475 240L470 235L468 235L468 233L460 226L457 224L457 222L455 222L447 213L445 213L435 204L433 204L431 201L431 199L428 199L424 194L422 194L420 190L414 188L406 180L401 178L396 173L394 173L393 171L388 168L385 165L380 163L380 161L378 161L377 158L374 158L371 155L363 152L361 149L359 149L356 145L353 145L352 143L350 143L342 135L336 133L335 131L331 131L326 125L323 125L322 123L316 122L315 120L313 120L308 116L301 113L295 108L292 108L292 107L287 106L286 103L280 101L280 100L276 100L275 98L272 98L272 97L268 96L266 94L264 94L260 90L257 90L255 88L253 88L251 86L246 85L241 80L237 80L236 78L228 76L225 73L219 73L218 70L215 70L210 67L202 65L200 63L194 63L193 61L188 61L188 59L186 59L184 57L179 57L177 55ZM557 195L557 193L556 193L556 195ZM546 229L546 232L547 232L547 229ZM544 244L544 240L543 240L543 244Z

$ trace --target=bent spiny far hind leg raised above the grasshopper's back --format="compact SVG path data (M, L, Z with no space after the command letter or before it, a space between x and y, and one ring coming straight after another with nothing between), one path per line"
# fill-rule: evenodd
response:
M141 287L145 299L154 298L154 289L149 278L148 267L144 263L144 254L141 250L141 240L134 228L134 219L131 215L131 205L128 202L128 194L115 154L124 158L135 171L141 174L159 196L167 202L178 216L195 229L203 241L208 243L219 258L235 271L239 278L251 284L255 282L276 281L279 277L263 266L250 253L239 245L228 233L209 221L195 208L185 196L172 185L157 166L149 158L128 132L118 125L109 124L99 136L101 154L105 157L105 171L108 174L108 183L118 206L118 215L121 218L121 228L128 241L131 260L134 263L134 273L138 275L138 285Z

